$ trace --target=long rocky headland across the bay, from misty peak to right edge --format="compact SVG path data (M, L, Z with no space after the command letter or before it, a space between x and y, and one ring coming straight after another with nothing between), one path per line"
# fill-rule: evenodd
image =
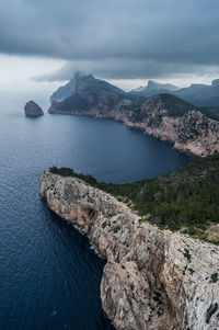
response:
M49 113L114 118L195 156L219 151L219 122L200 109L171 94L145 100L93 76L74 78L73 93L62 102L53 102Z

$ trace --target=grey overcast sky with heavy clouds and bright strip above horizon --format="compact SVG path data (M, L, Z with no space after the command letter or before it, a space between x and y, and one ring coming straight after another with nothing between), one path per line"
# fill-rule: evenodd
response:
M218 0L2 0L0 88L54 88L76 70L126 89L209 83L218 18Z

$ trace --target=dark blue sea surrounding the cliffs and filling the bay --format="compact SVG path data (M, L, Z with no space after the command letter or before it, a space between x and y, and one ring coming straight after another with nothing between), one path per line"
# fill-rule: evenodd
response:
M0 329L113 329L100 300L104 261L41 201L39 175L65 166L128 182L188 157L112 121L27 118L12 99L0 99Z

